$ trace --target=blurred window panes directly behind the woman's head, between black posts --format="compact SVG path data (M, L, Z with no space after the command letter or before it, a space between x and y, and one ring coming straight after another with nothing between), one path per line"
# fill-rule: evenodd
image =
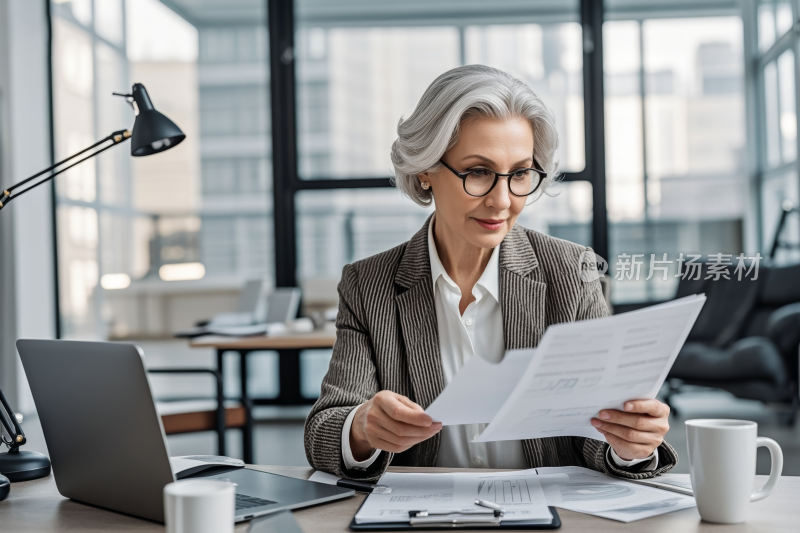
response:
M472 11L456 2L364 2L357 17L348 11L352 2L299 0L295 6L300 179L392 176L389 153L398 121L437 76L471 63L529 83L555 113L560 170L584 170L577 1L532 3L521 14L502 2ZM558 189L557 196L527 207L520 223L589 244L591 185L578 181ZM300 191L298 278L335 284L346 263L408 240L431 213L395 189Z

